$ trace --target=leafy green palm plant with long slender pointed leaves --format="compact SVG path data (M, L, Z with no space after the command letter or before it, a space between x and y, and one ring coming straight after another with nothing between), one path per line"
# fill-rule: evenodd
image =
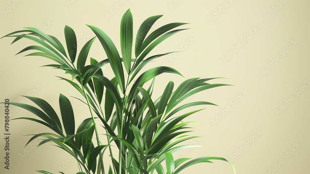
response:
M160 17L162 15L149 17L140 26L136 35L134 58L131 56L133 19L130 10L126 11L121 20L122 57L112 40L102 30L91 25L87 26L95 33L96 37L89 40L79 54L77 54L76 48L76 35L69 26L64 28L67 53L58 39L36 28L26 27L26 30L15 31L4 36L15 37L12 43L21 38L27 38L42 45L29 46L19 53L28 50L39 51L26 56L49 58L57 64L45 66L58 68L64 70L66 74L71 74L71 79L60 78L69 82L82 94L85 101L81 101L88 106L90 111L90 117L86 118L76 129L71 103L62 94L59 97L61 120L51 105L43 99L24 96L33 101L38 108L23 103L10 103L32 112L41 120L30 117L16 119L35 121L55 131L55 133L34 135L28 143L38 137L45 138L38 146L47 142L54 142L57 147L65 150L77 160L79 174L96 173L96 171L103 174L146 174L153 173L155 170L159 174L164 174L161 164L164 160L166 160L166 173L177 174L184 168L196 163L212 163L210 160L213 159L227 161L218 157L173 159L171 153L180 149L195 147L193 145L178 145L186 140L197 138L197 136L185 135L190 132L187 125L194 122L183 122L182 120L202 109L185 114L181 114L180 111L197 105L215 105L205 101L178 106L179 103L193 94L226 84L207 83L207 81L215 78L191 78L174 88L174 82L170 81L162 96L156 100L151 98L156 76L162 73L174 73L182 76L177 70L166 66L154 67L142 74L139 73L143 71L146 64L157 57L174 53L163 53L149 57L148 55L153 48L173 34L186 30L175 29L186 23L170 23L158 28L146 37L150 26ZM24 32L27 34L21 34ZM107 59L98 62L94 58L90 58L90 65L85 66L89 50L96 38L102 44ZM107 64L110 64L115 75L112 79L103 75L102 68ZM124 67L125 71L123 70ZM144 84L148 81L151 81L151 84L148 88L144 88ZM102 102L103 100L104 102ZM103 135L97 131L97 127L100 126L99 121L106 130ZM93 142L94 134L95 142ZM108 143L101 144L102 138L107 138ZM119 149L118 155L112 151L112 144L115 144ZM105 170L103 154L107 149L112 166ZM46 171L38 172L49 173Z

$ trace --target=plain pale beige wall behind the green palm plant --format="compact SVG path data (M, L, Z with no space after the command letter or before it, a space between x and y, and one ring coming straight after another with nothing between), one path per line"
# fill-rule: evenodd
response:
M135 32L144 19L159 14L164 16L151 30L170 22L191 23L186 27L193 29L172 36L152 53L181 49L197 54L179 53L175 57L158 58L149 67L168 65L186 78L226 77L228 79L213 83L234 86L210 89L185 101L205 100L219 107L209 107L188 119L202 123L194 125L193 134L205 137L188 143L203 147L177 152L175 158L224 157L235 165L239 174L308 173L310 86L304 81L309 83L310 79L309 5L306 0L2 0L0 35L31 26L64 43L63 28L69 25L75 30L78 43L82 44L95 35L85 25L89 24L104 30L120 48L119 23L128 8L133 14ZM79 97L70 85L55 77L69 78L63 71L39 67L51 61L14 56L33 42L21 39L10 45L11 41L12 38L0 40L1 102L10 98L11 102L24 100L32 104L20 96L26 94L43 98L58 109L59 93ZM227 55L229 52L231 57ZM103 53L96 40L90 56L103 60L106 58ZM111 77L108 67L104 74ZM176 84L184 80L175 75L159 76L154 95L161 94L172 79ZM70 100L75 103L79 121L89 117L82 102ZM280 109L282 112L277 112ZM23 109L12 106L11 110L11 118L32 117ZM0 113L4 113L3 105ZM62 172L66 174L78 172L69 155L50 144L34 148L38 140L24 147L30 137L22 135L50 132L25 120L10 121L10 170L5 170L2 117L0 125L0 173L28 174L36 173L35 170L56 173L59 167L63 167ZM192 166L183 173L233 171L225 162L215 161Z

